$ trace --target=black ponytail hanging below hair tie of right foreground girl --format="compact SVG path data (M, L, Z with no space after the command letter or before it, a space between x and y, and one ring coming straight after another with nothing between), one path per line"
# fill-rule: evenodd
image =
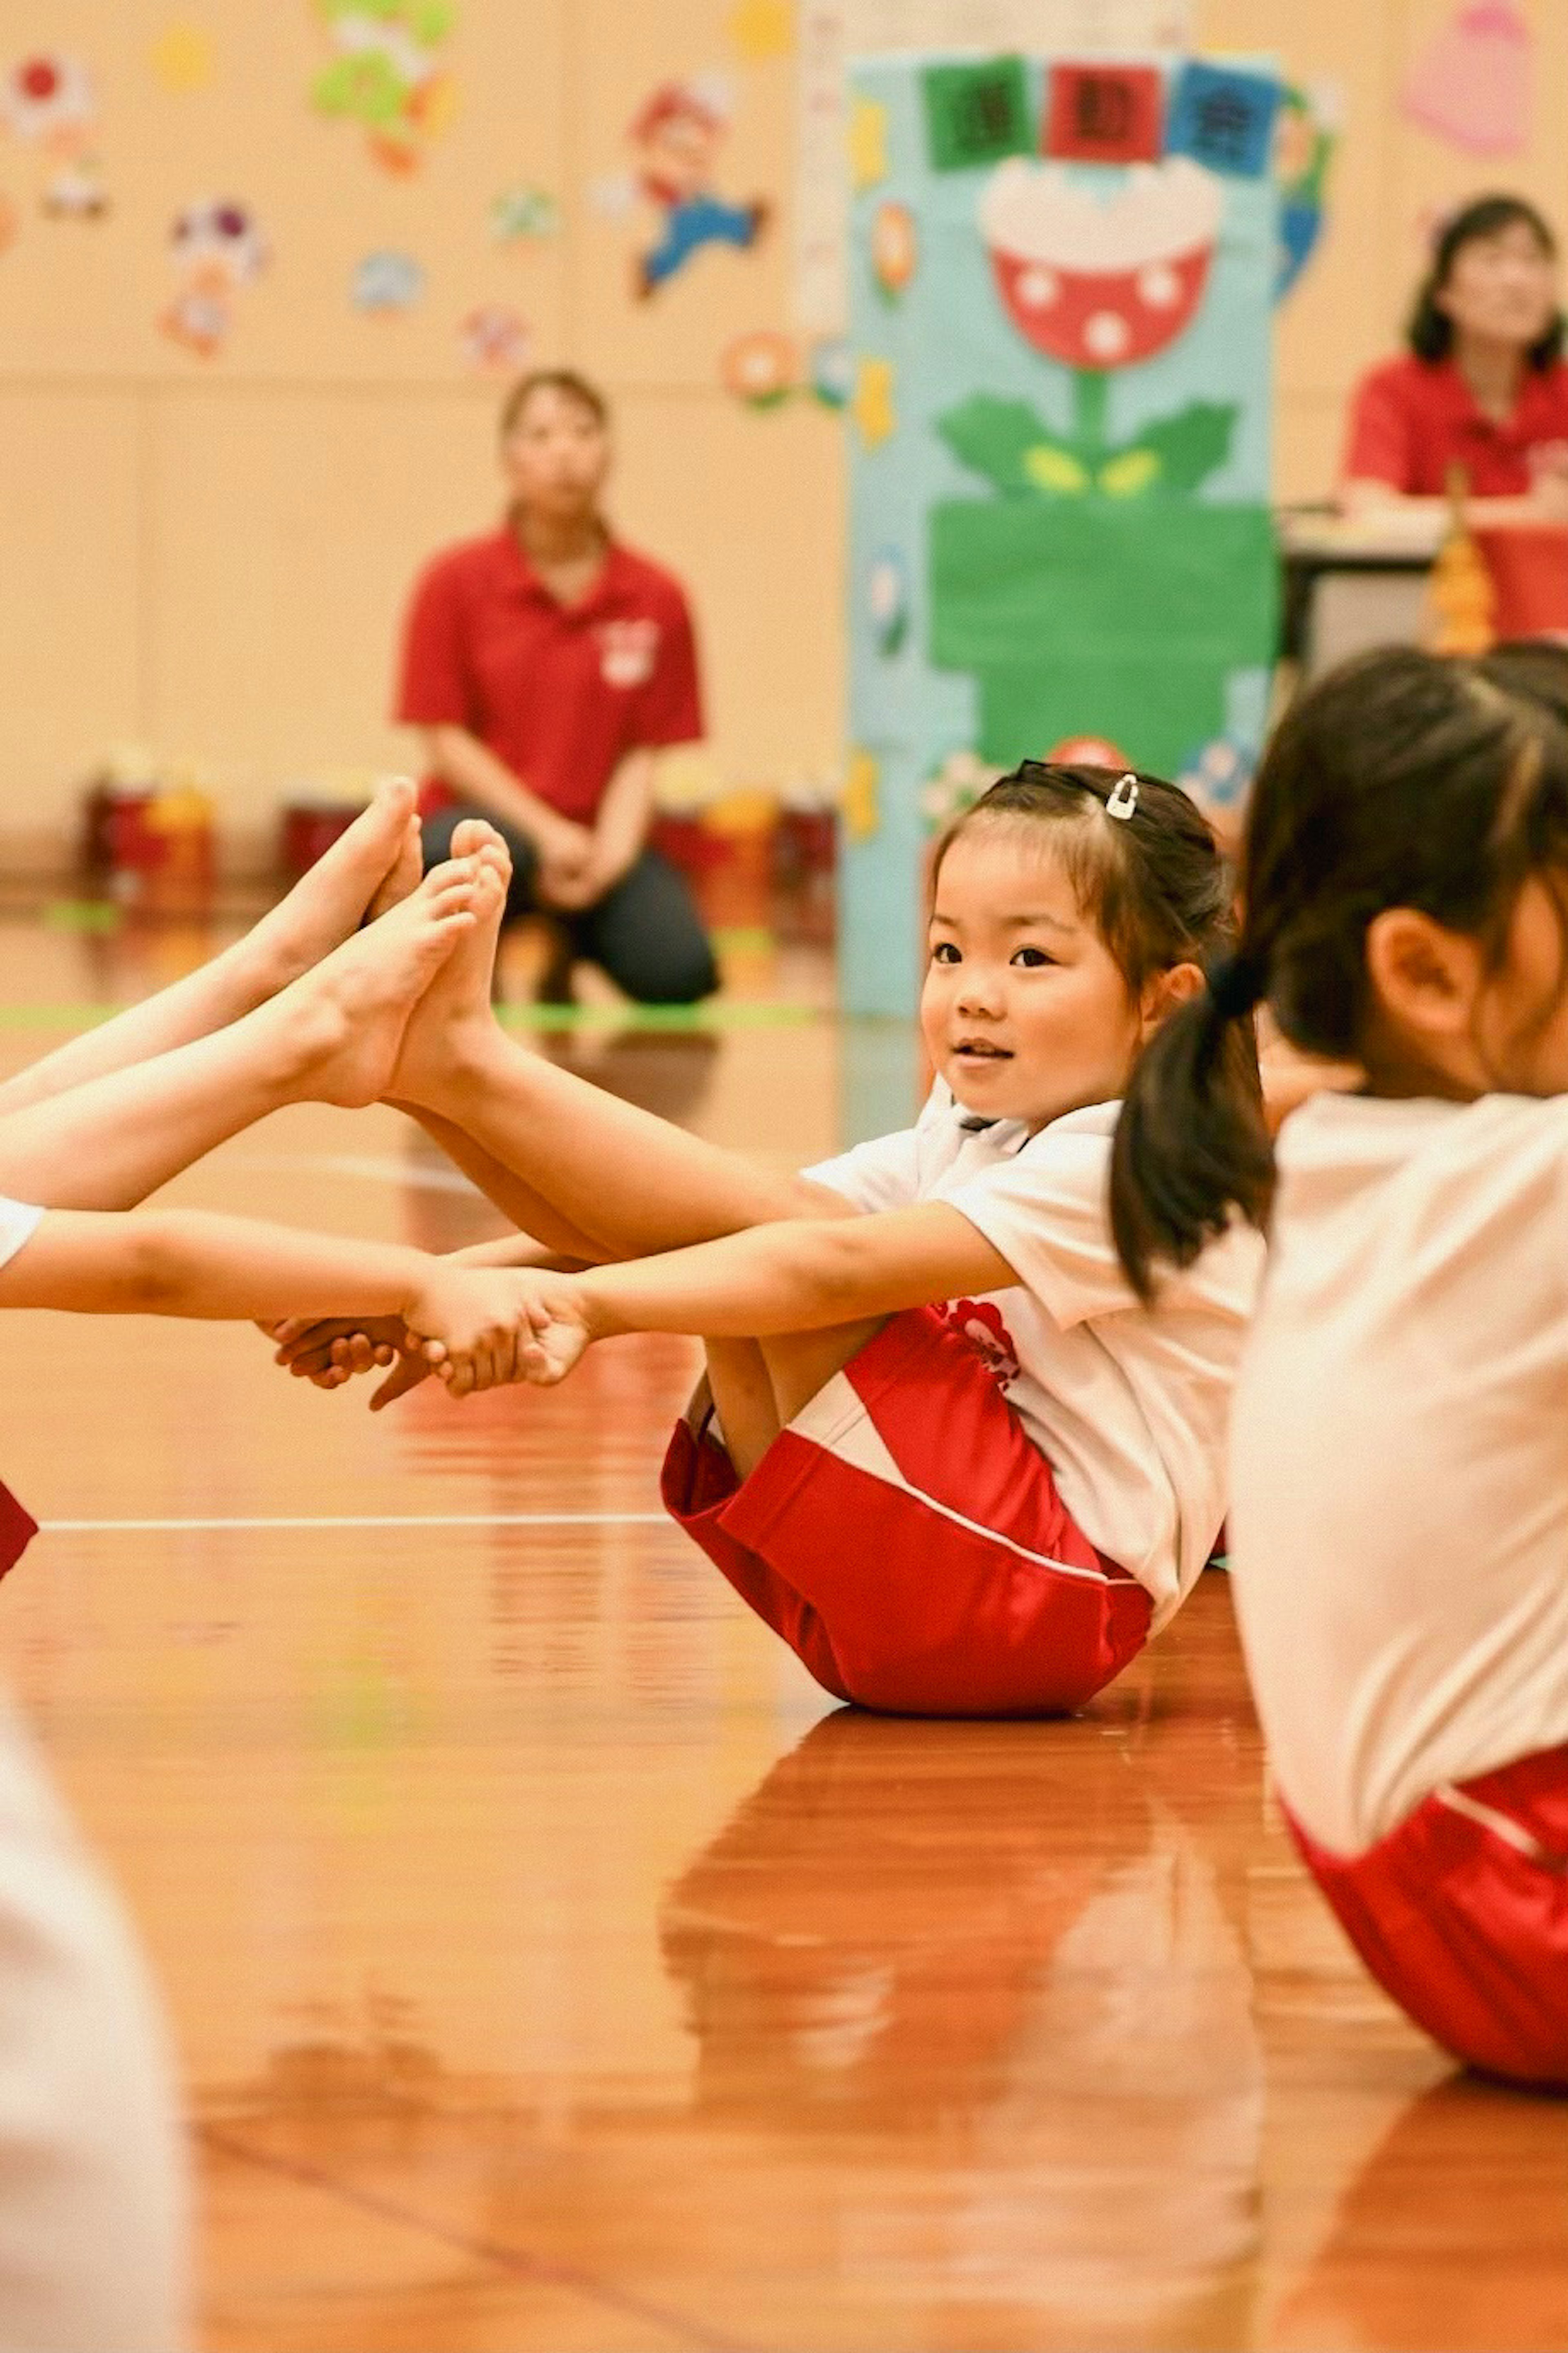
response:
M1274 1151L1253 1035L1262 993L1264 967L1229 958L1137 1056L1111 1144L1111 1238L1144 1304L1156 1259L1191 1266L1234 1209L1267 1224Z

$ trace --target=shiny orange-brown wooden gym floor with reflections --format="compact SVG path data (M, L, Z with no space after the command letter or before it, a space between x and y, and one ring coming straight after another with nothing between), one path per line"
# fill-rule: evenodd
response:
M5 1066L217 936L0 920ZM551 1049L798 1162L913 1087L826 1000L751 932L711 1031ZM170 1198L494 1231L393 1113ZM242 1329L7 1362L0 1671L172 2012L214 2353L1568 2344L1568 2108L1363 1979L1222 1577L1078 1722L862 1718L657 1518L680 1341L377 1421Z

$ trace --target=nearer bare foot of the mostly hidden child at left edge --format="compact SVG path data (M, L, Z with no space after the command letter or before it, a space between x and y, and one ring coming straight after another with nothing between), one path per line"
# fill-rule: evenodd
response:
M264 1019L287 1028L294 1092L320 1104L379 1101L412 1009L504 896L478 859L436 866L391 915L285 988Z

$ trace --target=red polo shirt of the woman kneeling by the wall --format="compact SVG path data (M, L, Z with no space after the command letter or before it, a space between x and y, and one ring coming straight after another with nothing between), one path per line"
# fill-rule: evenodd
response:
M702 736L680 584L612 541L589 593L560 605L511 527L466 539L414 588L398 718L466 727L530 793L593 824L629 751ZM426 779L426 812L454 798Z

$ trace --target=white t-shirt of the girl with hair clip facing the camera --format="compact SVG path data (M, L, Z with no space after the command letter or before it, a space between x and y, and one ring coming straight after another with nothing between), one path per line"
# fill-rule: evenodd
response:
M991 1360L1083 1534L1137 1577L1163 1626L1224 1520L1224 1426L1262 1242L1234 1228L1142 1308L1109 1221L1121 1104L965 1125L942 1080L916 1127L805 1174L859 1209L944 1200L1003 1254L1015 1289L958 1299L949 1322Z

